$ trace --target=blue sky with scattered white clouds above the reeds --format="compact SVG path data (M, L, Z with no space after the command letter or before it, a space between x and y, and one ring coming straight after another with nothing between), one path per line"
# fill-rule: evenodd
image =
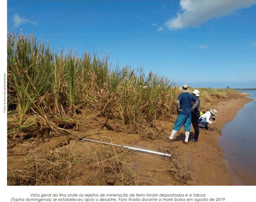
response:
M7 1L7 32L20 29L179 86L256 88L256 0Z

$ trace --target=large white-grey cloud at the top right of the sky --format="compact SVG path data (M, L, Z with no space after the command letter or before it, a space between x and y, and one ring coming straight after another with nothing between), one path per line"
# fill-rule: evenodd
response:
M233 10L250 7L253 4L256 4L255 0L181 0L181 10L178 11L177 17L168 19L164 24L169 30L200 27L211 18L227 16Z

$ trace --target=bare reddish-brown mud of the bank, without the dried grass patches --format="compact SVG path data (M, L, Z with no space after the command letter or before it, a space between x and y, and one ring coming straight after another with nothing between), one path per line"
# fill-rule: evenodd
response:
M174 136L173 142L165 140L170 136L175 117L155 120L156 130L152 130L154 136L156 137L158 132L164 129L156 138L150 138L152 137L152 135L148 135L151 134L150 131L143 135L144 133L133 131L132 126L123 126L121 120L119 122L109 120L109 124L104 125L105 118L102 117L91 119L88 121L91 128L88 127L83 131L76 131L76 133L79 137L86 136L89 139L172 154L172 157L168 159L159 155L125 151L124 153L128 155L125 164L133 169L134 175L137 177L137 181L133 185L238 185L236 176L230 171L223 158L224 154L221 152L223 149L219 147L218 142L221 128L227 122L232 121L244 104L252 101L246 95L241 93L238 99L230 98L228 100L213 98L210 108L217 110L216 124L209 124L212 130L200 129L198 142L189 142L188 145L182 142L185 138L183 128ZM194 135L193 127L191 127L190 135ZM67 149L87 154L98 146L97 143L84 140L79 144L77 139L69 135L54 135L45 142L35 137L26 138L21 142L8 140L7 167L9 170L20 168L24 158L30 154L39 155L39 150L52 154L61 149ZM106 148L106 146L102 145L102 148ZM117 152L118 148L111 149ZM170 164L172 161L175 163ZM79 169L76 168L79 172L73 175L69 185L124 185L123 182L116 179L113 173L105 173L108 166L107 161L100 162L98 167L93 168L81 164ZM101 173L103 171L104 174Z

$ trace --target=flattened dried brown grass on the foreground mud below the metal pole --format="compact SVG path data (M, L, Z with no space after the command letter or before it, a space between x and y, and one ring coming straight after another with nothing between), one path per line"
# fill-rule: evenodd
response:
M29 152L16 167L7 167L7 185L152 185L152 174L134 168L130 164L131 153L125 148L97 145L86 153L72 149ZM165 152L170 153L169 150ZM8 161L13 159L8 158ZM190 179L188 171L175 159L168 161L169 166L163 174L168 172L186 183ZM82 182L78 180L86 173L89 175L82 178Z

